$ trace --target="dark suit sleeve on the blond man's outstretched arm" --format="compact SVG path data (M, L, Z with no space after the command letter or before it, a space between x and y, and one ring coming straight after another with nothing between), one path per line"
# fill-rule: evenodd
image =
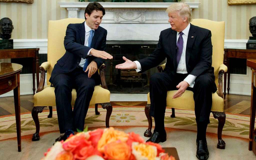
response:
M146 70L149 70L150 68L153 68L157 65L159 65L163 60L165 60L166 56L163 50L163 45L162 45L162 32L160 33L159 40L157 43L157 47L154 50L154 52L141 60L138 60L138 62L141 64L141 72L145 72Z

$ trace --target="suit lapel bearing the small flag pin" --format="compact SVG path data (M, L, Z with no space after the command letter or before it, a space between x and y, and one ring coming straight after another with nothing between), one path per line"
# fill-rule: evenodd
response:
M191 54L191 49L194 44L194 41L196 39L196 33L195 33L195 27L194 25L190 24L189 32L188 32L188 40L187 40L187 46L186 46L186 66L188 65L188 60Z

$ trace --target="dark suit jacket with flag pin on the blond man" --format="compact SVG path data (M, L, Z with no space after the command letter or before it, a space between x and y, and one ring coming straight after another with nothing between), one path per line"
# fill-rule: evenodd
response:
M177 32L171 28L161 31L157 48L153 54L138 60L141 64L141 72L159 65L166 58L167 62L164 72L175 76L177 71L176 39ZM195 76L204 73L213 74L211 56L211 31L190 24L186 46L186 67L188 74ZM216 88L216 85L214 88Z

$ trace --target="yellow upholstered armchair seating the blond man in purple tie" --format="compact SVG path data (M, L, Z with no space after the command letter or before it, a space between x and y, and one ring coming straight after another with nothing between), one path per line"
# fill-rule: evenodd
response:
M225 124L226 114L223 110L224 101L222 96L222 75L227 72L227 66L223 64L224 56L224 22L216 22L207 19L194 19L191 24L199 26L202 28L209 29L211 31L212 37L212 66L214 67L215 83L218 90L212 93L212 108L211 112L214 118L219 121L218 124L218 144L217 148L225 149L225 142L222 140L222 129ZM165 64L158 66L158 71L162 72L165 68ZM186 90L185 93L179 98L173 99L172 96L176 90L168 91L166 98L166 107L172 108L171 117L175 117L175 108L195 110L195 102L193 99L193 92ZM150 97L149 93L147 95L147 105L145 107L145 114L148 119L148 129L144 132L144 136L150 137L152 135L152 117L149 116L150 110Z

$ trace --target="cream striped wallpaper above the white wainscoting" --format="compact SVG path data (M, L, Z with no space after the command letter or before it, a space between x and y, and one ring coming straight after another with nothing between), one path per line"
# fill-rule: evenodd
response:
M135 2L135 0L133 0ZM12 39L47 39L48 20L67 18L67 10L57 2L78 2L77 0L34 0L27 3L0 3L0 18L13 21ZM150 2L160 2L151 0ZM225 39L249 39L249 19L256 16L256 5L228 6L228 0L181 0L200 2L192 18L225 21ZM104 20L104 18L103 18ZM167 20L167 19L166 19Z

